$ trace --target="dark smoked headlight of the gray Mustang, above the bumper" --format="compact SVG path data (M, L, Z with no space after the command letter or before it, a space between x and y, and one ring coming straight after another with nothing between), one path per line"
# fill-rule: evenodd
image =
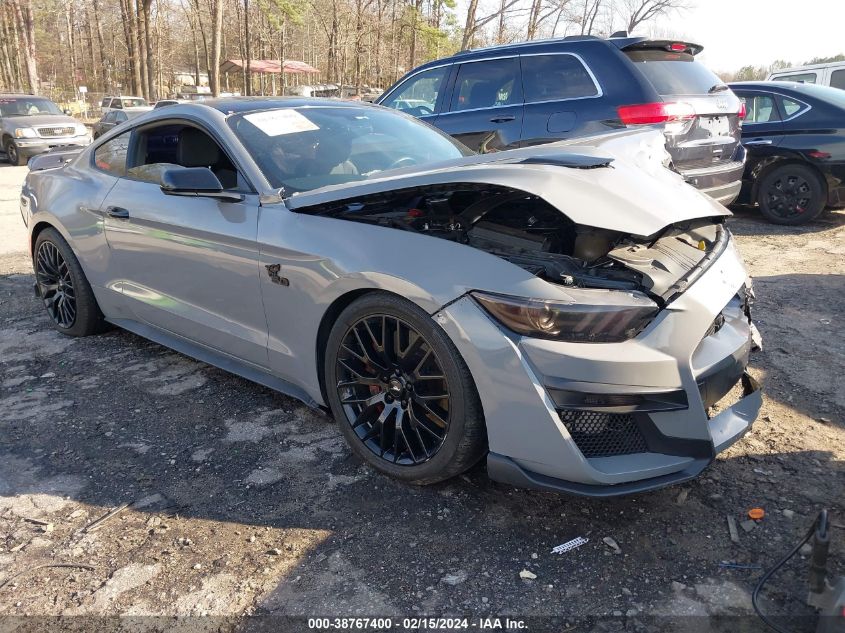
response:
M576 343L634 338L658 312L645 297L616 290L567 289L573 301L547 301L473 292L499 323L523 336Z

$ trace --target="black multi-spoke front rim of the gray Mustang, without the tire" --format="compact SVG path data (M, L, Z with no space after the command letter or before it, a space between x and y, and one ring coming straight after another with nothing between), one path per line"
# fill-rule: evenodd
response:
M401 466L431 459L446 439L451 406L428 341L402 319L381 314L353 324L341 346L338 397L361 442Z

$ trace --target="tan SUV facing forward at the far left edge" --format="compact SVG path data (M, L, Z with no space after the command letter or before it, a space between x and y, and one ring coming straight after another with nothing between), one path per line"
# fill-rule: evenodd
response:
M0 94L0 149L12 165L56 147L90 143L88 128L46 97Z

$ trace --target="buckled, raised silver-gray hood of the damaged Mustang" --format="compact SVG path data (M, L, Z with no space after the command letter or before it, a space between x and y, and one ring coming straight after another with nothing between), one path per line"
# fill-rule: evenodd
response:
M665 167L662 133L625 131L384 172L285 199L293 211L395 189L447 183L495 184L536 195L573 222L632 235L730 215Z

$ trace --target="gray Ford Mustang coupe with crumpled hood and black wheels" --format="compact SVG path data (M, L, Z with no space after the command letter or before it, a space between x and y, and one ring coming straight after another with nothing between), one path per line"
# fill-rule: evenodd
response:
M606 496L696 476L761 404L728 213L662 146L476 156L378 106L215 100L33 159L21 211L60 332L108 322L326 407L406 482L486 456Z

